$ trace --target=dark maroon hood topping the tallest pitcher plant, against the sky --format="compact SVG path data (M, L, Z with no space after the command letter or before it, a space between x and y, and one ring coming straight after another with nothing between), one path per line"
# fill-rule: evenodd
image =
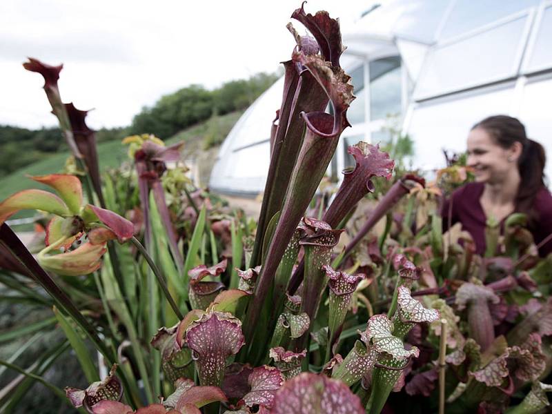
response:
M339 57L345 50L341 41L339 20L331 19L328 12L324 10L317 12L314 16L311 13L306 14L303 6L304 4L295 10L291 17L303 23L313 34L324 59L330 61L333 66L339 66Z

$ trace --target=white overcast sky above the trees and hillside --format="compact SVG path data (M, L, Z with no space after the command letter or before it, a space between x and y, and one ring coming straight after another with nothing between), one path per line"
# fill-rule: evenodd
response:
M371 1L311 0L350 25ZM286 30L300 0L0 1L0 124L39 128L56 119L26 57L63 63L63 101L95 108L92 128L125 126L141 107L191 83L272 72L290 57ZM300 33L301 23L294 21Z

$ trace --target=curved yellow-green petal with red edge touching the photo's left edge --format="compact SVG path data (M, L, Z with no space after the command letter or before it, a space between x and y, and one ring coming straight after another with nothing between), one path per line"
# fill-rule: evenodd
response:
M71 214L57 195L44 190L23 190L0 203L0 224L19 210L42 210L65 217Z

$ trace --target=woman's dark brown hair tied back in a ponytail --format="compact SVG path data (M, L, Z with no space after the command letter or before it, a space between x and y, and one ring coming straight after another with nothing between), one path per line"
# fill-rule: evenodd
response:
M526 213L530 221L535 219L531 214L531 206L535 195L544 186L544 148L527 137L525 127L519 119L507 115L485 118L471 129L475 128L485 130L502 148L510 148L516 141L522 144L522 155L517 159L521 182L515 197L515 207L517 211Z

